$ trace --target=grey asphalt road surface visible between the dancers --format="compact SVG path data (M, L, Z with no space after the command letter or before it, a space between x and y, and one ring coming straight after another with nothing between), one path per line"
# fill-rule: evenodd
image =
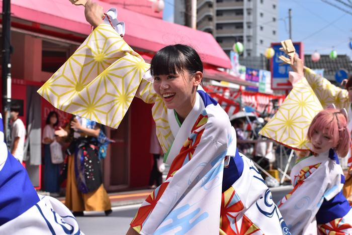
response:
M277 204L292 187L272 189L273 201ZM104 212L84 212L83 217L76 217L80 230L85 235L124 235L130 227L140 204L113 207L113 213L105 216Z

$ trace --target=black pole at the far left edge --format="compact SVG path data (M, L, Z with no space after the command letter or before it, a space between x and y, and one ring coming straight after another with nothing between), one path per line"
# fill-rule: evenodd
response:
M3 0L3 122L4 139L10 149L10 104L11 104L11 0Z

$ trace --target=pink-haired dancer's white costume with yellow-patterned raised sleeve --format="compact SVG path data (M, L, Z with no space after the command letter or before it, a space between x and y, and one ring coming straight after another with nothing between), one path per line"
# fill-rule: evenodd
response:
M306 157L292 169L294 189L278 207L292 234L349 234L352 217L341 191L344 176L337 155L331 149L309 157L308 128L323 108L305 77L290 72L290 80L292 91L274 118L259 132L302 151L300 155Z

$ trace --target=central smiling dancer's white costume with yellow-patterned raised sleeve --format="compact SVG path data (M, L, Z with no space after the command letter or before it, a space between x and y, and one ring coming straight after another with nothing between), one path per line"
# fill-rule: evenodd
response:
M131 226L140 234L289 234L269 188L236 151L235 132L221 106L199 86L180 127L155 93L148 69L111 26L100 25L38 90L55 107L113 128L135 96L155 103L156 134L171 166ZM222 193L230 161L238 177Z

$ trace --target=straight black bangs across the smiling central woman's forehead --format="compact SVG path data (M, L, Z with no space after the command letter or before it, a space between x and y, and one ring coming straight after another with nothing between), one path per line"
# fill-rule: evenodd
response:
M151 76L175 74L183 71L183 58L181 52L174 47L166 46L155 53L150 63Z

